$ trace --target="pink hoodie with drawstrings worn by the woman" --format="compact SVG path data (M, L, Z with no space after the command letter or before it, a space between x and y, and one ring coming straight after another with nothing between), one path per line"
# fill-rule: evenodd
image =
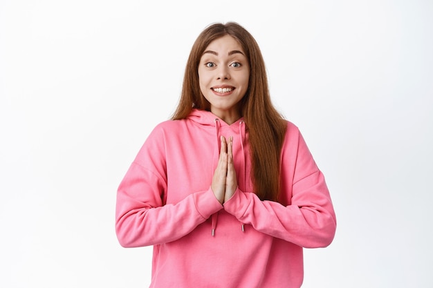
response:
M210 189L219 137L233 136L238 189L223 205ZM297 127L282 149L282 204L252 193L248 132L208 111L156 126L125 178L116 205L123 247L154 245L150 287L295 288L302 247L326 247L335 213L322 173Z

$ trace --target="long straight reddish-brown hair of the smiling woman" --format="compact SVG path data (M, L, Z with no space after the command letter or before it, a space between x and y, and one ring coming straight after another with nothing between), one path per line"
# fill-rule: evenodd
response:
M254 37L238 23L215 23L197 37L187 60L181 99L172 119L185 119L193 108L210 111L210 103L199 86L200 59L210 42L230 35L239 41L250 64L249 87L240 102L248 128L252 184L261 200L279 200L280 155L286 133L284 117L270 101L264 59Z

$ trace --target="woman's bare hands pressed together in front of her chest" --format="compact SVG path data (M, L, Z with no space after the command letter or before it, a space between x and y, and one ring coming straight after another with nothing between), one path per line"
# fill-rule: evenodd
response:
M229 200L237 189L236 171L233 164L233 137L228 140L221 136L221 151L212 177L211 189L218 201L223 204Z

